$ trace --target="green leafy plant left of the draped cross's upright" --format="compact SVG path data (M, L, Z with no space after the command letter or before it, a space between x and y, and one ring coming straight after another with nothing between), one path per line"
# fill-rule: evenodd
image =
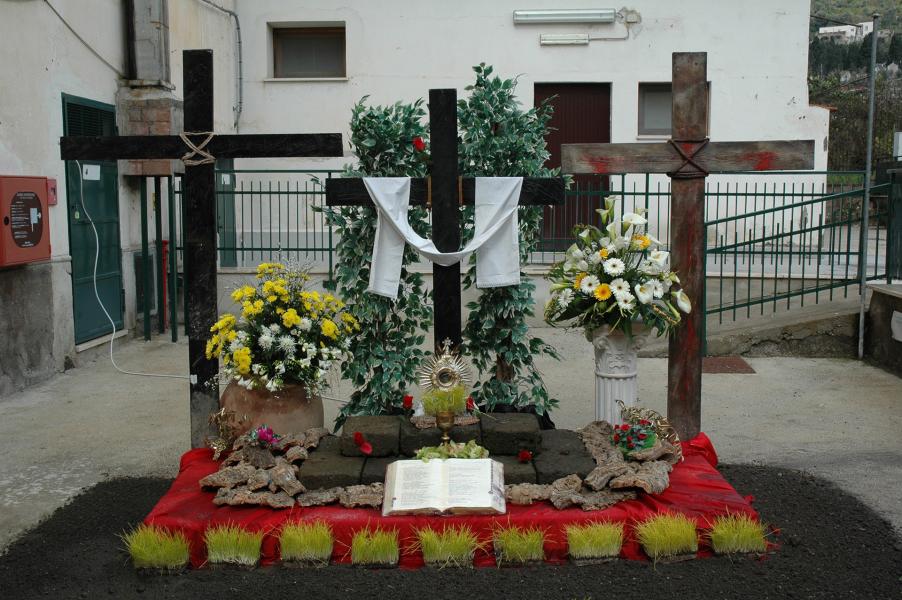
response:
M367 97L351 111L351 150L357 164L346 168L349 177L423 177L427 174L426 153L414 141L424 143L429 132L423 124L423 101L391 106L367 106ZM422 146L420 146L422 147ZM405 390L416 380L423 360L420 345L432 326L423 276L408 270L417 254L404 251L401 286L397 300L366 291L370 258L376 235L376 210L372 207L323 209L340 240L333 290L347 303L362 325L354 338L354 360L345 362L342 377L355 390L336 419L336 430L351 415L376 415L401 410ZM410 224L420 235L429 235L427 212L411 207Z

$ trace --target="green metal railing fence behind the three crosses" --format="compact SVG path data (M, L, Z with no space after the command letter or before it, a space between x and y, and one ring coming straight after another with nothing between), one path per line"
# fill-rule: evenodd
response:
M217 170L217 228L221 269L253 269L261 261L307 264L331 277L339 240L317 210L325 205L330 170ZM896 187L898 190L898 186ZM898 195L898 191L896 193ZM863 173L718 173L705 195L706 312L720 321L858 294L860 271L887 275L894 250L887 231L889 185L871 189L870 227L861 231ZM179 271L183 251L181 186L169 197ZM666 177L621 174L580 178L563 206L546 208L534 264L559 260L575 223L594 219L604 198L622 211L642 210L648 232L670 240L670 187ZM895 198L899 202L899 198ZM171 288L177 286L171 277ZM171 295L171 294L170 294ZM171 303L170 303L171 304Z

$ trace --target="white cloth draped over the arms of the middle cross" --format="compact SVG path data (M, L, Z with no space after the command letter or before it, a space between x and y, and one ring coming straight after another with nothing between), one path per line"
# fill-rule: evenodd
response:
M476 252L476 287L519 285L517 207L522 177L476 178L473 239L457 252L439 252L431 240L410 226L409 177L365 177L363 182L378 212L368 291L392 299L398 297L405 244L442 266L453 265Z

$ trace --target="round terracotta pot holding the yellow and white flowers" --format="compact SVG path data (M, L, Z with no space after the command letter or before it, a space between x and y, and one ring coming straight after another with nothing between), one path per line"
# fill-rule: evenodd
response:
M277 392L249 390L232 381L222 393L219 406L234 411L241 422L239 434L260 425L268 425L276 433L300 433L323 426L323 400L308 397L303 385L285 385Z

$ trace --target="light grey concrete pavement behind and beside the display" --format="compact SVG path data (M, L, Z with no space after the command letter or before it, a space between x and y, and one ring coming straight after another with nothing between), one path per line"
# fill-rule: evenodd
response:
M539 361L558 427L594 416L591 348L575 332L534 328L561 352ZM117 362L184 374L187 345L117 341ZM859 496L902 532L902 380L846 359L750 358L753 375L705 375L703 430L723 462L809 471ZM640 402L662 410L666 359L640 360ZM0 547L84 487L122 476L172 477L189 439L187 381L122 375L106 355L0 399ZM326 398L331 422L350 390Z

